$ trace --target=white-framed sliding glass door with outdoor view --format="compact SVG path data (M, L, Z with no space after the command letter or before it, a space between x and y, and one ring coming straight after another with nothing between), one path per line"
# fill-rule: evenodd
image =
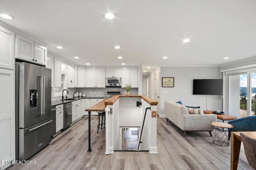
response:
M226 75L228 78L228 114L236 117L255 115L256 72Z

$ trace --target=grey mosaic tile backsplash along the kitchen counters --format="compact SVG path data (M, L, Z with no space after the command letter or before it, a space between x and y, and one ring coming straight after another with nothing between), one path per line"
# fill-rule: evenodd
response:
M68 98L73 98L74 92L82 92L86 98L104 98L107 91L120 91L122 95L126 94L124 88L68 88L67 90ZM138 94L138 88L131 88L130 95L136 94ZM54 97L54 88L52 88L52 101L55 100L62 100L62 96Z

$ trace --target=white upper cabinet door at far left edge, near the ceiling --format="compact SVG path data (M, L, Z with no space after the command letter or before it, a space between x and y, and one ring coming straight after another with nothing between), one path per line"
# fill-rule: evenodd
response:
M14 70L14 32L0 26L0 68Z

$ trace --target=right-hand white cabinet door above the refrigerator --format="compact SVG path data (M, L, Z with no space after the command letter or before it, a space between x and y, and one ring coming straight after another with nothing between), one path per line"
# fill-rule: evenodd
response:
M34 50L34 61L36 61L36 63L46 65L47 48L38 43L34 43Z

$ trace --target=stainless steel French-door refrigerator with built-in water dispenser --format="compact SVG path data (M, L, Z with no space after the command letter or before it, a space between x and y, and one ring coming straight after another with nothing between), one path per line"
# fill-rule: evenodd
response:
M16 160L26 160L51 141L51 69L15 64Z

